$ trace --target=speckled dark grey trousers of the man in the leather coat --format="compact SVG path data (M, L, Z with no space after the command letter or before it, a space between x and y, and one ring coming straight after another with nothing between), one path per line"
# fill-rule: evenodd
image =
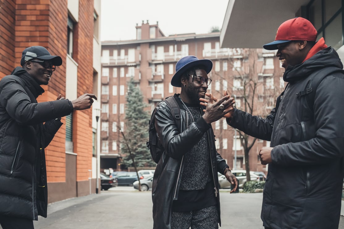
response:
M172 212L171 229L218 229L216 205L195 211Z

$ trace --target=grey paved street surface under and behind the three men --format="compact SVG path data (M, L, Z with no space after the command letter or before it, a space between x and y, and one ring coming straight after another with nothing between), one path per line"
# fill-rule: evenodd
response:
M220 199L221 228L263 228L262 193L220 190ZM34 221L35 229L151 229L152 225L151 192L139 192L131 186L49 204L48 217ZM339 228L344 229L343 216Z

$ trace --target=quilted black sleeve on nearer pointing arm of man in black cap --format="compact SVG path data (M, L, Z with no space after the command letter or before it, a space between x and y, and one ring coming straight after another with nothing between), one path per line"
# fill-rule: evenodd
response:
M67 99L31 103L24 88L11 78L0 81L0 103L11 117L22 125L43 123L73 111L73 105Z

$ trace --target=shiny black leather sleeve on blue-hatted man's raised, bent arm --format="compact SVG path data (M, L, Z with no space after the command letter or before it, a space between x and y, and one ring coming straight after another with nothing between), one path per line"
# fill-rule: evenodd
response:
M183 118L183 115L181 115L181 118ZM181 120L182 125L183 122L185 120ZM200 141L203 134L210 127L211 125L208 125L201 117L180 133L166 102L160 103L155 111L155 129L159 140L166 154L173 159L182 158L187 151Z

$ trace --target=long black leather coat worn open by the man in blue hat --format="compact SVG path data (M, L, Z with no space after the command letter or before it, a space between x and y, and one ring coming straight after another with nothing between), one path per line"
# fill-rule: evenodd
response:
M223 169L228 165L221 155L216 152L214 133L211 125L208 125L203 118L190 124L188 115L179 101L177 94L174 94L174 99L181 109L181 130L174 123L170 108L166 102L159 103L155 113L155 128L166 150L154 172L152 186L153 228L171 228L171 208L173 200L178 199L179 184L184 166L184 154L200 141L205 132L208 134L212 164L211 171L213 174L212 180L216 187L214 192L217 193L218 222L221 225L217 172L223 174ZM203 111L201 112L203 113Z

